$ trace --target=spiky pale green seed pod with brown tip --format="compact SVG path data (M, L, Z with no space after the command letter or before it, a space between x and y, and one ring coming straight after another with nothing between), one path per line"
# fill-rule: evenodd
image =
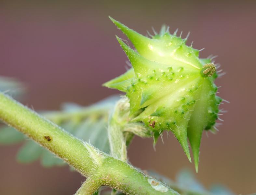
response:
M110 19L137 52L117 37L132 68L104 86L126 93L130 115L138 113L132 122L143 122L154 137L171 131L191 161L188 137L197 171L202 132L214 131L222 101L215 95L216 67L210 59L200 59L198 50L185 45L186 39L176 33L170 34L166 26L148 38Z

